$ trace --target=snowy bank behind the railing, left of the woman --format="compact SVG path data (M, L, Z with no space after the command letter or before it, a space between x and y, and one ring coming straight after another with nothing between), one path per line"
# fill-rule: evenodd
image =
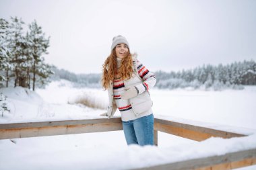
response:
M88 108L79 103L71 104L85 94L91 97L92 103L98 101L98 107L106 108L106 99L102 97L104 91L73 89L68 81L55 81L46 90L36 89L36 93L22 87L1 88L0 92L7 95L7 103L11 108L9 114L0 118L1 124L102 118L99 116L104 112L102 109Z

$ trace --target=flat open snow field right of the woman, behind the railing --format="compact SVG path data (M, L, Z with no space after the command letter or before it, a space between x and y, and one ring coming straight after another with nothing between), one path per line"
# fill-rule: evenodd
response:
M256 129L255 87L225 91L152 90L150 94L157 115Z

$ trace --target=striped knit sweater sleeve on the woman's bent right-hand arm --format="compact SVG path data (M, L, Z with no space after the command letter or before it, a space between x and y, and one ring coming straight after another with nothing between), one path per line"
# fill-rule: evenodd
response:
M139 77L141 77L143 83L136 85L138 94L148 91L156 84L156 77L154 73L151 73L139 60L137 60L137 72Z

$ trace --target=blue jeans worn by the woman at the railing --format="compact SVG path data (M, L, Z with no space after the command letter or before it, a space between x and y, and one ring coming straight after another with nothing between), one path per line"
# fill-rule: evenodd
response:
M154 144L154 116L150 114L135 120L122 121L127 144Z

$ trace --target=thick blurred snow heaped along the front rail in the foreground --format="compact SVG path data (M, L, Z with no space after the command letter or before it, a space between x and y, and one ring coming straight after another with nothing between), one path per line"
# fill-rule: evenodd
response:
M256 147L255 134L243 138L209 138L203 142L182 146L177 143L162 148L135 144L120 148L115 144L88 146L82 142L90 138L77 135L80 140L74 142L73 137L37 137L33 138L32 143L22 138L17 144L1 140L1 146L5 146L0 148L1 169L40 169L42 166L44 169L131 169L224 155ZM105 137L112 136L105 134ZM42 142L44 140L47 142Z

